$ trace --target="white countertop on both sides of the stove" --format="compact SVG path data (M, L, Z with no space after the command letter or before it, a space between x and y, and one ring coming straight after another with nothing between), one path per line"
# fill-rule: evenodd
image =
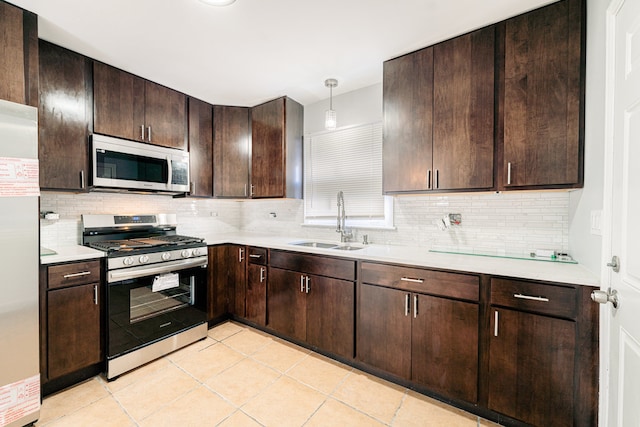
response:
M201 235L208 245L233 243L239 245L260 246L271 249L284 249L312 254L331 255L342 258L381 261L397 264L409 264L420 267L457 270L469 273L490 274L548 282L569 283L575 285L600 286L599 279L580 264L565 264L536 260L509 259L490 256L458 255L429 252L428 248L412 246L394 246L371 244L355 251L340 251L292 245L291 242L304 240L296 236L276 236L260 233L225 233ZM331 243L337 242L333 241ZM354 245L358 245L354 243ZM360 246L360 245L358 245ZM51 247L56 255L40 257L42 264L81 261L100 258L103 252L84 246Z

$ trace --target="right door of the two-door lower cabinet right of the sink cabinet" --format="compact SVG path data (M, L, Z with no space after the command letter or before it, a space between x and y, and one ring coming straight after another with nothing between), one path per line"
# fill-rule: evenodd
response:
M412 380L430 390L478 400L478 304L412 295Z

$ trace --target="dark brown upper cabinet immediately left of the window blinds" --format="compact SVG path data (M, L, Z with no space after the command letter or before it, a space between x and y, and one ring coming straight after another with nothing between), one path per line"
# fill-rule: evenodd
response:
M287 97L251 109L251 197L302 198L303 112Z

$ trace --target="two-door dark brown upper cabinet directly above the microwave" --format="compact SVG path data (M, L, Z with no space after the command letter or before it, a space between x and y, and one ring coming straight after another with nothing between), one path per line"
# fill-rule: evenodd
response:
M94 130L187 149L187 99L173 89L94 62Z

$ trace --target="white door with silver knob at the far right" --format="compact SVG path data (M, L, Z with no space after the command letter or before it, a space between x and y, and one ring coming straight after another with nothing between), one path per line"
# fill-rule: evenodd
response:
M619 258L605 287L619 306L602 312L609 342L608 426L640 426L640 1L612 0L607 13L607 111L605 200L610 236L604 254ZM610 244L610 247L608 247ZM606 332L605 332L606 334ZM608 347L608 348L606 348ZM606 394L606 393L605 393ZM604 415L603 412L601 414Z

